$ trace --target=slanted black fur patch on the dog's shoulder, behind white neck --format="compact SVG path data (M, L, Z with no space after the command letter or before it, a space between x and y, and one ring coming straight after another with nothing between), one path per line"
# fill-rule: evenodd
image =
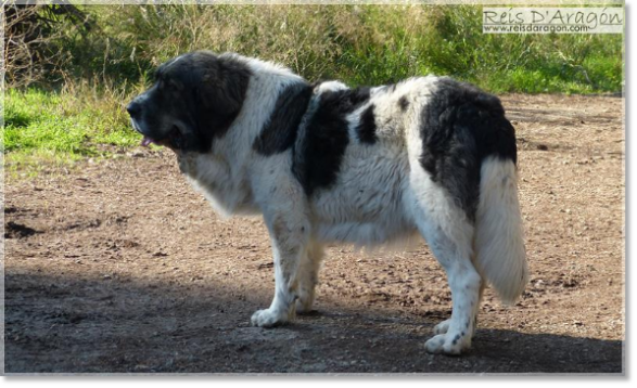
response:
M311 98L311 89L306 82L297 82L288 86L279 94L272 115L253 144L256 152L273 155L294 144L298 125Z

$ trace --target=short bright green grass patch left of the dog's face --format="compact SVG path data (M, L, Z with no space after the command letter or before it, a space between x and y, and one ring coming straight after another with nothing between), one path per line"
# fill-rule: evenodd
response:
M103 102L107 102L104 99ZM116 106L37 89L4 95L4 152L9 167L67 165L139 142ZM119 107L122 108L122 107ZM123 108L122 108L123 109Z

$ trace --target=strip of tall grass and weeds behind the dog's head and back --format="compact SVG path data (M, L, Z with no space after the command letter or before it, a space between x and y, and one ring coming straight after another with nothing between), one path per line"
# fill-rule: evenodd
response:
M209 49L351 85L449 75L494 92L598 93L622 87L620 35L482 34L469 5L91 7L107 39L72 39L75 77L138 81ZM87 66L88 64L88 66ZM78 72L79 70L79 72Z

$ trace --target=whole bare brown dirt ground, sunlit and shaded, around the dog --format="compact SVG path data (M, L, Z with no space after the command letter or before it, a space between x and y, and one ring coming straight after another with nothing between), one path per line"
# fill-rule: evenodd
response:
M316 310L250 326L273 293L258 218L222 220L168 151L5 182L5 372L622 373L623 99L506 95L531 283L491 290L472 350L426 354L450 314L421 243L332 246Z

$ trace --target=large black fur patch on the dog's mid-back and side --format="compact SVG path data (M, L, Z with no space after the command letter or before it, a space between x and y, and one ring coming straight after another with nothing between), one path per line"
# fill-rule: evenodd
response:
M369 100L369 88L327 91L294 150L293 172L309 196L332 185L349 137L345 116Z

